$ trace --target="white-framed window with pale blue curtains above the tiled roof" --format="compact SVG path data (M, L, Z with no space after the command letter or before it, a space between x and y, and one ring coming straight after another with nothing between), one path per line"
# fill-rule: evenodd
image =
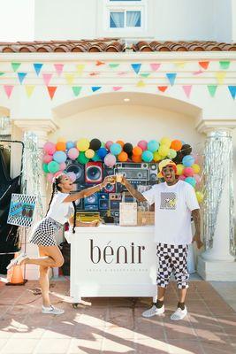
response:
M147 0L107 0L107 23L110 30L141 29Z

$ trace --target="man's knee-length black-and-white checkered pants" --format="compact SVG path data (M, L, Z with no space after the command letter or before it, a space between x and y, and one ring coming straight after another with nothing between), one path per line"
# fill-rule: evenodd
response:
M166 288L169 284L171 273L174 272L179 289L188 288L187 273L187 244L157 244L157 257L159 259L159 269L156 283L159 287Z

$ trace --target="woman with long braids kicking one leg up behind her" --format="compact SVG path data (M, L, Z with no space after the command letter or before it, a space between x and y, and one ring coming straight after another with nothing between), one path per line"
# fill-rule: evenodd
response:
M46 217L37 225L29 242L37 244L39 248L39 258L28 258L25 253L20 253L19 257L11 260L7 269L15 265L36 265L40 266L40 285L42 288L42 313L62 314L64 310L58 309L50 304L49 300L49 268L59 267L64 263L64 258L57 246L55 235L64 227L64 224L72 215L72 207L74 208L73 233L76 220L75 201L86 196L91 196L95 192L106 187L108 183L114 183L115 178L108 176L100 184L94 187L83 189L80 192L70 192L73 189L73 183L70 178L62 173L58 175L52 185L52 195L49 202L49 209ZM97 226L97 221L92 223L82 223L80 226Z

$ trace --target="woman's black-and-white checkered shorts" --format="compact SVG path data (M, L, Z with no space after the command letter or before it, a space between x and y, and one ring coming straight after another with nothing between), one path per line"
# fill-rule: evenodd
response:
M38 246L55 246L57 241L55 235L63 228L63 225L51 218L42 219L42 221L34 229L29 242Z

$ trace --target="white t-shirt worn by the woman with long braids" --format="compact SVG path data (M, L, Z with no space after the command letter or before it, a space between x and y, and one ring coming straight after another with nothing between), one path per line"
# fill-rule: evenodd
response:
M70 196L68 193L57 192L51 201L49 212L47 217L56 220L60 224L65 224L66 221L70 218L73 212L72 202L65 202L66 196Z

